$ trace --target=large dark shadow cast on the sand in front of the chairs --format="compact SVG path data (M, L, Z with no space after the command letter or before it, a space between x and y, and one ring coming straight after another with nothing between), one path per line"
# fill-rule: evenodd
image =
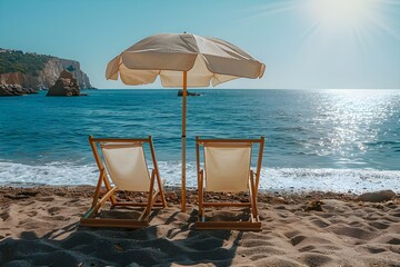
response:
M160 214L153 210L150 220ZM162 224L139 229L89 228L74 222L42 237L23 231L19 238L0 241L0 266L231 266L243 233L199 231L194 229L197 217L193 209L189 215L172 212Z

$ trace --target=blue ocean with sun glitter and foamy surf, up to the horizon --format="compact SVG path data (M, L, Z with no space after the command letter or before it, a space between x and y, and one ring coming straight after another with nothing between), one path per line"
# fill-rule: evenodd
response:
M268 191L400 192L400 90L197 89L188 98L187 186L196 187L196 136L266 137ZM0 98L0 185L96 185L88 142L147 137L160 172L180 186L178 90L88 90Z

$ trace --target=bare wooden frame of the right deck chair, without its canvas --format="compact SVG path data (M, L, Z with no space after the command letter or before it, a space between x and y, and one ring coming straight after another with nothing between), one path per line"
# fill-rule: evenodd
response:
M208 202L204 201L204 169L200 168L200 146L226 146L240 144L259 144L259 155L256 174L253 170L249 170L249 202ZM199 194L199 219L196 222L196 229L231 229L231 230L252 230L260 231L261 222L258 215L257 208L257 195L258 186L260 180L262 152L263 152L264 137L260 139L200 139L196 137L196 158L197 158L197 176L198 176L198 194ZM250 152L251 157L251 152ZM206 159L204 159L206 160ZM250 159L251 161L251 159ZM250 166L249 166L250 167ZM207 180L206 180L207 182ZM250 208L250 220L249 221L206 221L204 209L207 207L249 207Z

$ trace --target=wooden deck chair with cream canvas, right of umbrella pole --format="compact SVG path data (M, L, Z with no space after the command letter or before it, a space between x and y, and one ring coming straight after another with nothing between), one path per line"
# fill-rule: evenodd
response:
M251 149L259 144L256 172L251 166ZM257 210L257 194L260 179L264 138L260 139L200 139L196 137L196 157L199 194L199 219L196 229L261 230ZM203 148L203 169L200 167L200 147ZM249 202L204 201L204 192L249 194ZM208 221L208 207L249 207L249 221Z

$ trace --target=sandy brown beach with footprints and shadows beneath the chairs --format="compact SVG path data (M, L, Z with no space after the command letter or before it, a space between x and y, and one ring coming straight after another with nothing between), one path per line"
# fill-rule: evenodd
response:
M400 266L398 196L366 202L342 194L262 192L262 231L242 233L196 230L196 194L189 191L183 214L171 188L168 207L153 211L147 228L80 227L92 191L0 188L0 266Z

